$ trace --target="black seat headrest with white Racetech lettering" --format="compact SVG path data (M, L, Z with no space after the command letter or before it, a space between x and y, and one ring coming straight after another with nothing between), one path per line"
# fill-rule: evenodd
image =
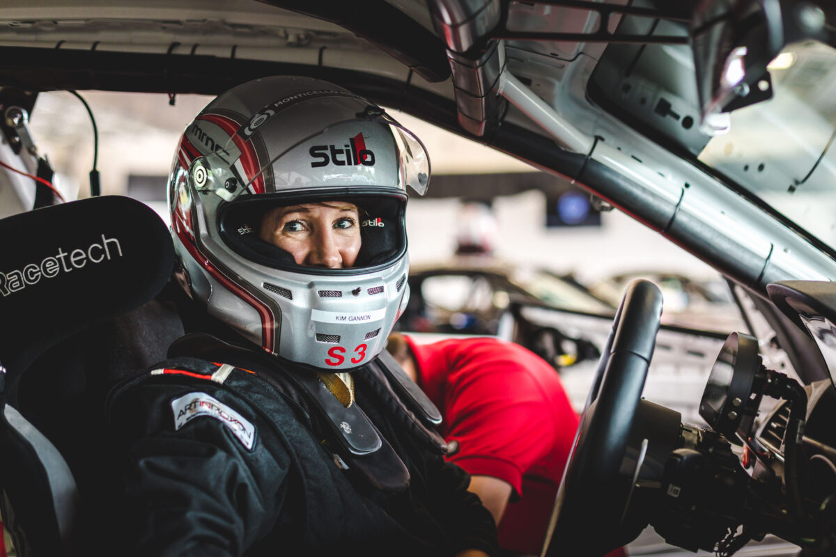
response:
M10 374L91 323L149 301L174 265L161 218L116 195L9 216L0 238L0 363Z

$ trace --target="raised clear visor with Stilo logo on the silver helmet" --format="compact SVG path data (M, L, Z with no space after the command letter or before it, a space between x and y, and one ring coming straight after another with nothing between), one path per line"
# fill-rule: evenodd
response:
M382 109L370 107L354 119L318 129L293 143L278 122L270 124L263 124L257 136L247 139L242 147L245 152L238 147L242 142L231 138L195 160L191 178L196 189L212 191L227 201L244 192L352 186L400 190L410 186L418 195L426 193L431 168L424 144ZM255 160L257 165L253 165Z

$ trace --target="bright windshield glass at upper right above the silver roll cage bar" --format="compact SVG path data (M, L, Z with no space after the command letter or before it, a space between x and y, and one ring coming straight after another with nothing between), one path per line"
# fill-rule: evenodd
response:
M699 159L836 248L836 50L796 43L768 68L773 98L732 112Z

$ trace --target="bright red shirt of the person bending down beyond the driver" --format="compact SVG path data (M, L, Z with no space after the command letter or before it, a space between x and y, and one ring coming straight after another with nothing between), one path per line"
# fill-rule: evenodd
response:
M421 387L444 417L441 434L459 443L447 459L513 488L499 544L539 554L579 423L558 372L493 338L407 341Z

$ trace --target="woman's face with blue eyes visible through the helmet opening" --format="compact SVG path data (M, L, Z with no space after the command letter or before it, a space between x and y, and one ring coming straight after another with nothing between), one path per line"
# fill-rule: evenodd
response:
M360 251L359 211L346 201L275 207L262 217L258 237L288 251L297 265L348 268Z

